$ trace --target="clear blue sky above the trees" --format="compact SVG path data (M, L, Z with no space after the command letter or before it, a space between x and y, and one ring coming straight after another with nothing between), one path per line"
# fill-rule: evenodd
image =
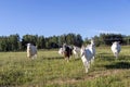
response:
M0 0L0 36L130 35L130 0Z

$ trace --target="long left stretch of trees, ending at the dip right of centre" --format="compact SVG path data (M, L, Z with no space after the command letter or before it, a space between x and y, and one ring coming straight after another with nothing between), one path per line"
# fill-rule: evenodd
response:
M62 47L64 42L80 47L83 40L79 34L64 34L51 37L24 35L22 38L18 34L14 34L10 36L0 36L0 51L26 50L28 42L37 46L38 49L53 49Z

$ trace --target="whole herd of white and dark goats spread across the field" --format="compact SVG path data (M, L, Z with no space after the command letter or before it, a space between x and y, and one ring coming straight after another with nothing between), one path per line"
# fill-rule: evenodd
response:
M120 52L120 49L121 49L119 42L118 41L113 42L110 49L117 59ZM60 48L58 53L64 55L67 62L69 61L70 55L74 54L75 58L79 58L80 55L82 63L84 65L84 69L86 69L86 73L88 73L88 70L90 69L90 64L94 62L95 44L93 39L91 39L90 45L88 45L87 47L82 46L81 48L76 47L76 46L70 47L64 44L63 47ZM31 59L37 58L37 48L32 46L31 44L27 44L27 57Z

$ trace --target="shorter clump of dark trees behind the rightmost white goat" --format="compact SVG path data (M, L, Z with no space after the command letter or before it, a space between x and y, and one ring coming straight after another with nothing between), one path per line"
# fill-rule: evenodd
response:
M121 34L100 34L93 38L95 46L110 46L114 41L119 41L120 45L130 45L130 36Z

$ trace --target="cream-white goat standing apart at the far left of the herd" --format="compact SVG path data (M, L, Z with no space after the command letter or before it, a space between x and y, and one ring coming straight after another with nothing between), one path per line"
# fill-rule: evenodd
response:
M28 58L37 58L37 48L31 44L27 44L27 57Z

